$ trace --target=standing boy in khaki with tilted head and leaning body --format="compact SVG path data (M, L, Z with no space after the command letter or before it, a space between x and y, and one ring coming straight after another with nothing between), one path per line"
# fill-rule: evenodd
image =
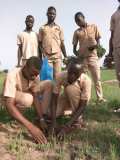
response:
M103 98L102 86L100 81L100 66L97 56L97 46L99 44L100 33L96 25L89 25L85 21L83 13L75 14L75 22L79 28L74 32L73 36L73 52L76 56L83 59L85 67L91 72L97 100L99 102L105 101ZM77 45L79 44L79 50Z

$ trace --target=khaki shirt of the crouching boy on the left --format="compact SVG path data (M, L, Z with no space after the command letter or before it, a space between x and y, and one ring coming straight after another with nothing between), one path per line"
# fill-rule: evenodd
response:
M3 96L15 98L16 91L27 92L30 86L38 81L38 78L34 81L26 80L22 75L21 68L15 68L7 74L3 88Z

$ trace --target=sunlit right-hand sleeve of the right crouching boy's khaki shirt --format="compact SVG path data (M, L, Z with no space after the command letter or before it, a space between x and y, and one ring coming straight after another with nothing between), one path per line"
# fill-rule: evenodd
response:
M89 101L91 98L91 80L89 77L85 77L82 80L82 87L81 87L81 99Z

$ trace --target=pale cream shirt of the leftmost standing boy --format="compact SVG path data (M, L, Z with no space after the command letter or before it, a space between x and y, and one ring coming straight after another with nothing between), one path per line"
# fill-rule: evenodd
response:
M17 45L22 45L22 59L38 57L38 36L35 32L24 31L17 36Z

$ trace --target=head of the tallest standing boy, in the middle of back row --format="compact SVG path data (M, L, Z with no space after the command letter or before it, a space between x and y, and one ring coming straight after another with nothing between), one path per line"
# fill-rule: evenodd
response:
M56 18L56 9L55 7L49 7L47 10L48 22L54 22Z

